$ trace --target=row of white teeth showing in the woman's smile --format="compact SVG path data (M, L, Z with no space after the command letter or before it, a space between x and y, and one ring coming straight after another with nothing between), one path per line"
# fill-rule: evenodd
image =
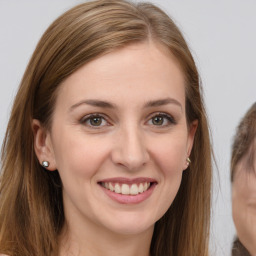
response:
M139 184L119 184L111 182L103 182L102 186L112 192L122 195L138 195L147 191L150 187L150 182L144 182Z

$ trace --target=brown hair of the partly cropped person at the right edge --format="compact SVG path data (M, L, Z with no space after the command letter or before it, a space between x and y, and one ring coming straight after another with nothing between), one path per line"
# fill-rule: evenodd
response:
M233 139L231 153L231 182L235 179L236 167L238 163L245 158L245 171L255 171L255 143L256 143L256 102L246 112L241 119L236 134ZM239 238L235 238L232 247L232 256L249 256L249 252L240 242Z

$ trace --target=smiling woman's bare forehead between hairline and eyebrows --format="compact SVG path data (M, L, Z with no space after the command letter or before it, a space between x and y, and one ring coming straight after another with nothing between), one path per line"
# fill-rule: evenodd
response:
M101 56L71 74L62 83L58 98L76 101L96 95L121 100L129 94L138 94L142 100L170 94L185 104L184 76L167 48L144 42Z

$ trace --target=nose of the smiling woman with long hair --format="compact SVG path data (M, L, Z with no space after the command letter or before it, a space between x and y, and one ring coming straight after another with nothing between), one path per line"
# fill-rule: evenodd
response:
M115 164L130 171L139 170L146 165L150 157L145 137L137 127L126 127L116 136L112 150L112 161Z

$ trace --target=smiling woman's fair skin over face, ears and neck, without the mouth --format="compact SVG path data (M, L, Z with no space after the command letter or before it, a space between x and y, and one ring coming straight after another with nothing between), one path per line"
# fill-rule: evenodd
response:
M99 126L90 114L100 115ZM154 223L188 166L197 121L188 125L185 114L179 64L152 42L99 57L63 82L51 130L33 121L38 159L58 169L63 182L61 255L149 255ZM98 184L120 177L157 184L143 202L121 204Z

